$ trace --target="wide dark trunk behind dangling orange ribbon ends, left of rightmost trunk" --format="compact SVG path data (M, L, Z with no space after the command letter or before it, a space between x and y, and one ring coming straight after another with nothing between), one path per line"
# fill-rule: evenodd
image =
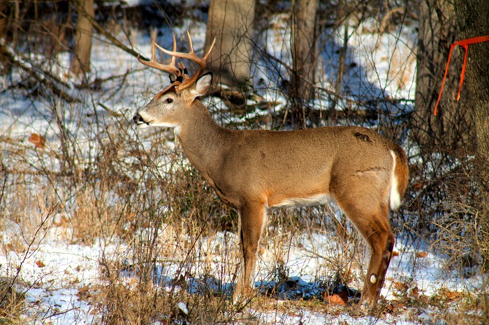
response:
M443 80L450 45L458 40L453 20L453 4L449 0L422 0L419 13L418 64L416 99L411 136L425 153L445 152L452 155L474 151L475 133L471 109L467 106L466 89L458 90L463 52L453 51L437 116L433 115Z

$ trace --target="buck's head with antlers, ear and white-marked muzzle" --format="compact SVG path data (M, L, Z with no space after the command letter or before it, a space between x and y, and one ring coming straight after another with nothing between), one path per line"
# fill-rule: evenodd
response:
M173 34L173 51L168 51L156 44L156 30L152 32L151 38L151 60L145 61L140 59L140 63L145 66L156 68L158 70L170 73L170 86L167 86L163 91L160 91L153 97L153 99L145 105L142 109L133 117L134 123L139 128L146 128L148 126L166 126L175 128L176 132L179 132L180 121L182 116L187 114L191 105L196 98L204 96L212 84L212 73L202 74L205 70L205 61L210 55L214 43L212 43L209 52L205 54L203 58L196 56L190 34L187 31L189 37L190 52L181 53L176 52L177 43L175 40L175 34ZM162 52L172 56L170 64L162 64L156 62L155 51L156 47ZM198 64L199 68L196 74L192 77L189 76L187 68L182 63L178 63L178 68L175 65L175 59L179 57L182 59L189 59Z

